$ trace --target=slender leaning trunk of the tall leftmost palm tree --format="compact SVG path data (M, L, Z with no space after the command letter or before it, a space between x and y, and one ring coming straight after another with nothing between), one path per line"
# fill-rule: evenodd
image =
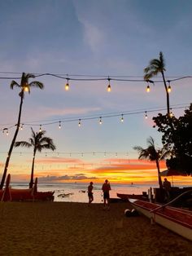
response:
M7 175L7 169L8 169L9 161L10 161L10 157L11 157L11 152L13 150L13 147L14 147L15 140L16 140L16 137L18 135L18 132L20 130L20 117L21 117L21 112L22 112L23 101L24 101L24 93L22 94L22 91L21 91L21 95L20 95L20 111L19 111L18 121L17 121L17 124L16 124L15 135L14 135L14 137L12 139L11 146L10 146L10 149L9 149L9 152L8 152L8 155L7 155L6 164L5 164L5 167L4 167L3 174L2 174L2 181L1 181L1 184L0 184L0 189L3 188L3 185L5 183L5 179L6 179L6 175Z

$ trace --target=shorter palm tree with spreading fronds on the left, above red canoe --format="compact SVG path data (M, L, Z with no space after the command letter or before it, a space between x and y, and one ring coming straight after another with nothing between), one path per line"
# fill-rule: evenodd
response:
M32 130L32 137L29 138L29 143L27 141L16 141L15 147L33 147L33 161L32 161L32 171L31 171L31 179L29 183L29 188L33 188L33 174L34 174L34 164L35 164L35 156L36 152L41 152L42 149L50 149L54 151L56 149L53 139L49 137L45 137L46 130L41 130L39 132L34 132Z

